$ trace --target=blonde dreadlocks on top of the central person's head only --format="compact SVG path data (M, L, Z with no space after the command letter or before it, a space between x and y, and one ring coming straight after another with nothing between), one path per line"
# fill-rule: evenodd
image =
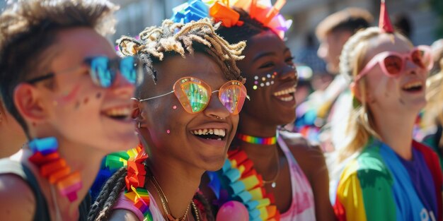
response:
M140 32L139 40L123 36L117 40L117 44L123 55L139 56L145 64L147 73L154 78L154 83L157 78L153 65L163 61L168 54L180 54L185 58L186 51L189 54L197 51L212 56L222 68L226 79L243 82L236 61L243 59L241 52L246 43L229 44L215 33L219 26L220 23L214 25L209 18L186 24L166 19L161 26L152 26Z

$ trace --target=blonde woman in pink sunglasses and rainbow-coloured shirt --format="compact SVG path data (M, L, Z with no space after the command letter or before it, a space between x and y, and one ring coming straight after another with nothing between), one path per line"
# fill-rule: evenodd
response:
M345 43L340 71L352 78L354 115L340 150L348 159L335 199L340 220L443 220L438 157L413 140L430 68L430 48L393 30L383 0L379 27Z

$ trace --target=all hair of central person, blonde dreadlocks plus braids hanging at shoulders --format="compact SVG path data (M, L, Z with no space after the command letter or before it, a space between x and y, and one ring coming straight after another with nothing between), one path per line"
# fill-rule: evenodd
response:
M154 64L161 63L166 56L176 54L185 58L187 52L189 54L202 52L212 56L222 68L227 80L244 82L236 61L243 59L241 52L246 47L246 43L229 44L215 33L217 28L219 28L219 23L214 25L208 18L187 24L164 20L161 26L152 26L140 32L139 40L135 37L123 36L117 40L117 44L123 55L135 55L143 61L144 68L147 74L152 76L154 83L157 81ZM149 90L142 86L144 83L140 85L137 87L136 97L141 97L143 90ZM108 179L91 207L88 220L109 219L113 205L125 186L126 175L126 169L119 169L113 177ZM201 193L196 193L194 198L204 205L206 220L214 220L209 203Z

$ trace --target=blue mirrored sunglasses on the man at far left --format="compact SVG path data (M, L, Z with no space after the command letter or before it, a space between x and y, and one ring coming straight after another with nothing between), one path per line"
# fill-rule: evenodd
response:
M143 76L142 64L139 59L134 56L126 56L124 58L117 57L115 59L110 59L107 56L93 56L84 59L81 65L84 64L89 66L89 75L93 83L101 88L109 88L113 85L117 71L120 71L122 76L132 84L135 84L137 81L141 82ZM69 73L76 68L79 68L79 66L69 68L69 70L59 73L47 73L44 76L26 80L26 82L37 83L41 80L52 78L56 74Z

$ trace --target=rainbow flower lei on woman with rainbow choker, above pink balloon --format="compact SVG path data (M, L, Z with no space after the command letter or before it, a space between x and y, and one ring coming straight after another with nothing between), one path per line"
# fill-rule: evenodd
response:
M251 221L280 220L274 196L266 193L261 175L243 150L229 150L222 169L207 174L217 205L239 201L248 209Z

